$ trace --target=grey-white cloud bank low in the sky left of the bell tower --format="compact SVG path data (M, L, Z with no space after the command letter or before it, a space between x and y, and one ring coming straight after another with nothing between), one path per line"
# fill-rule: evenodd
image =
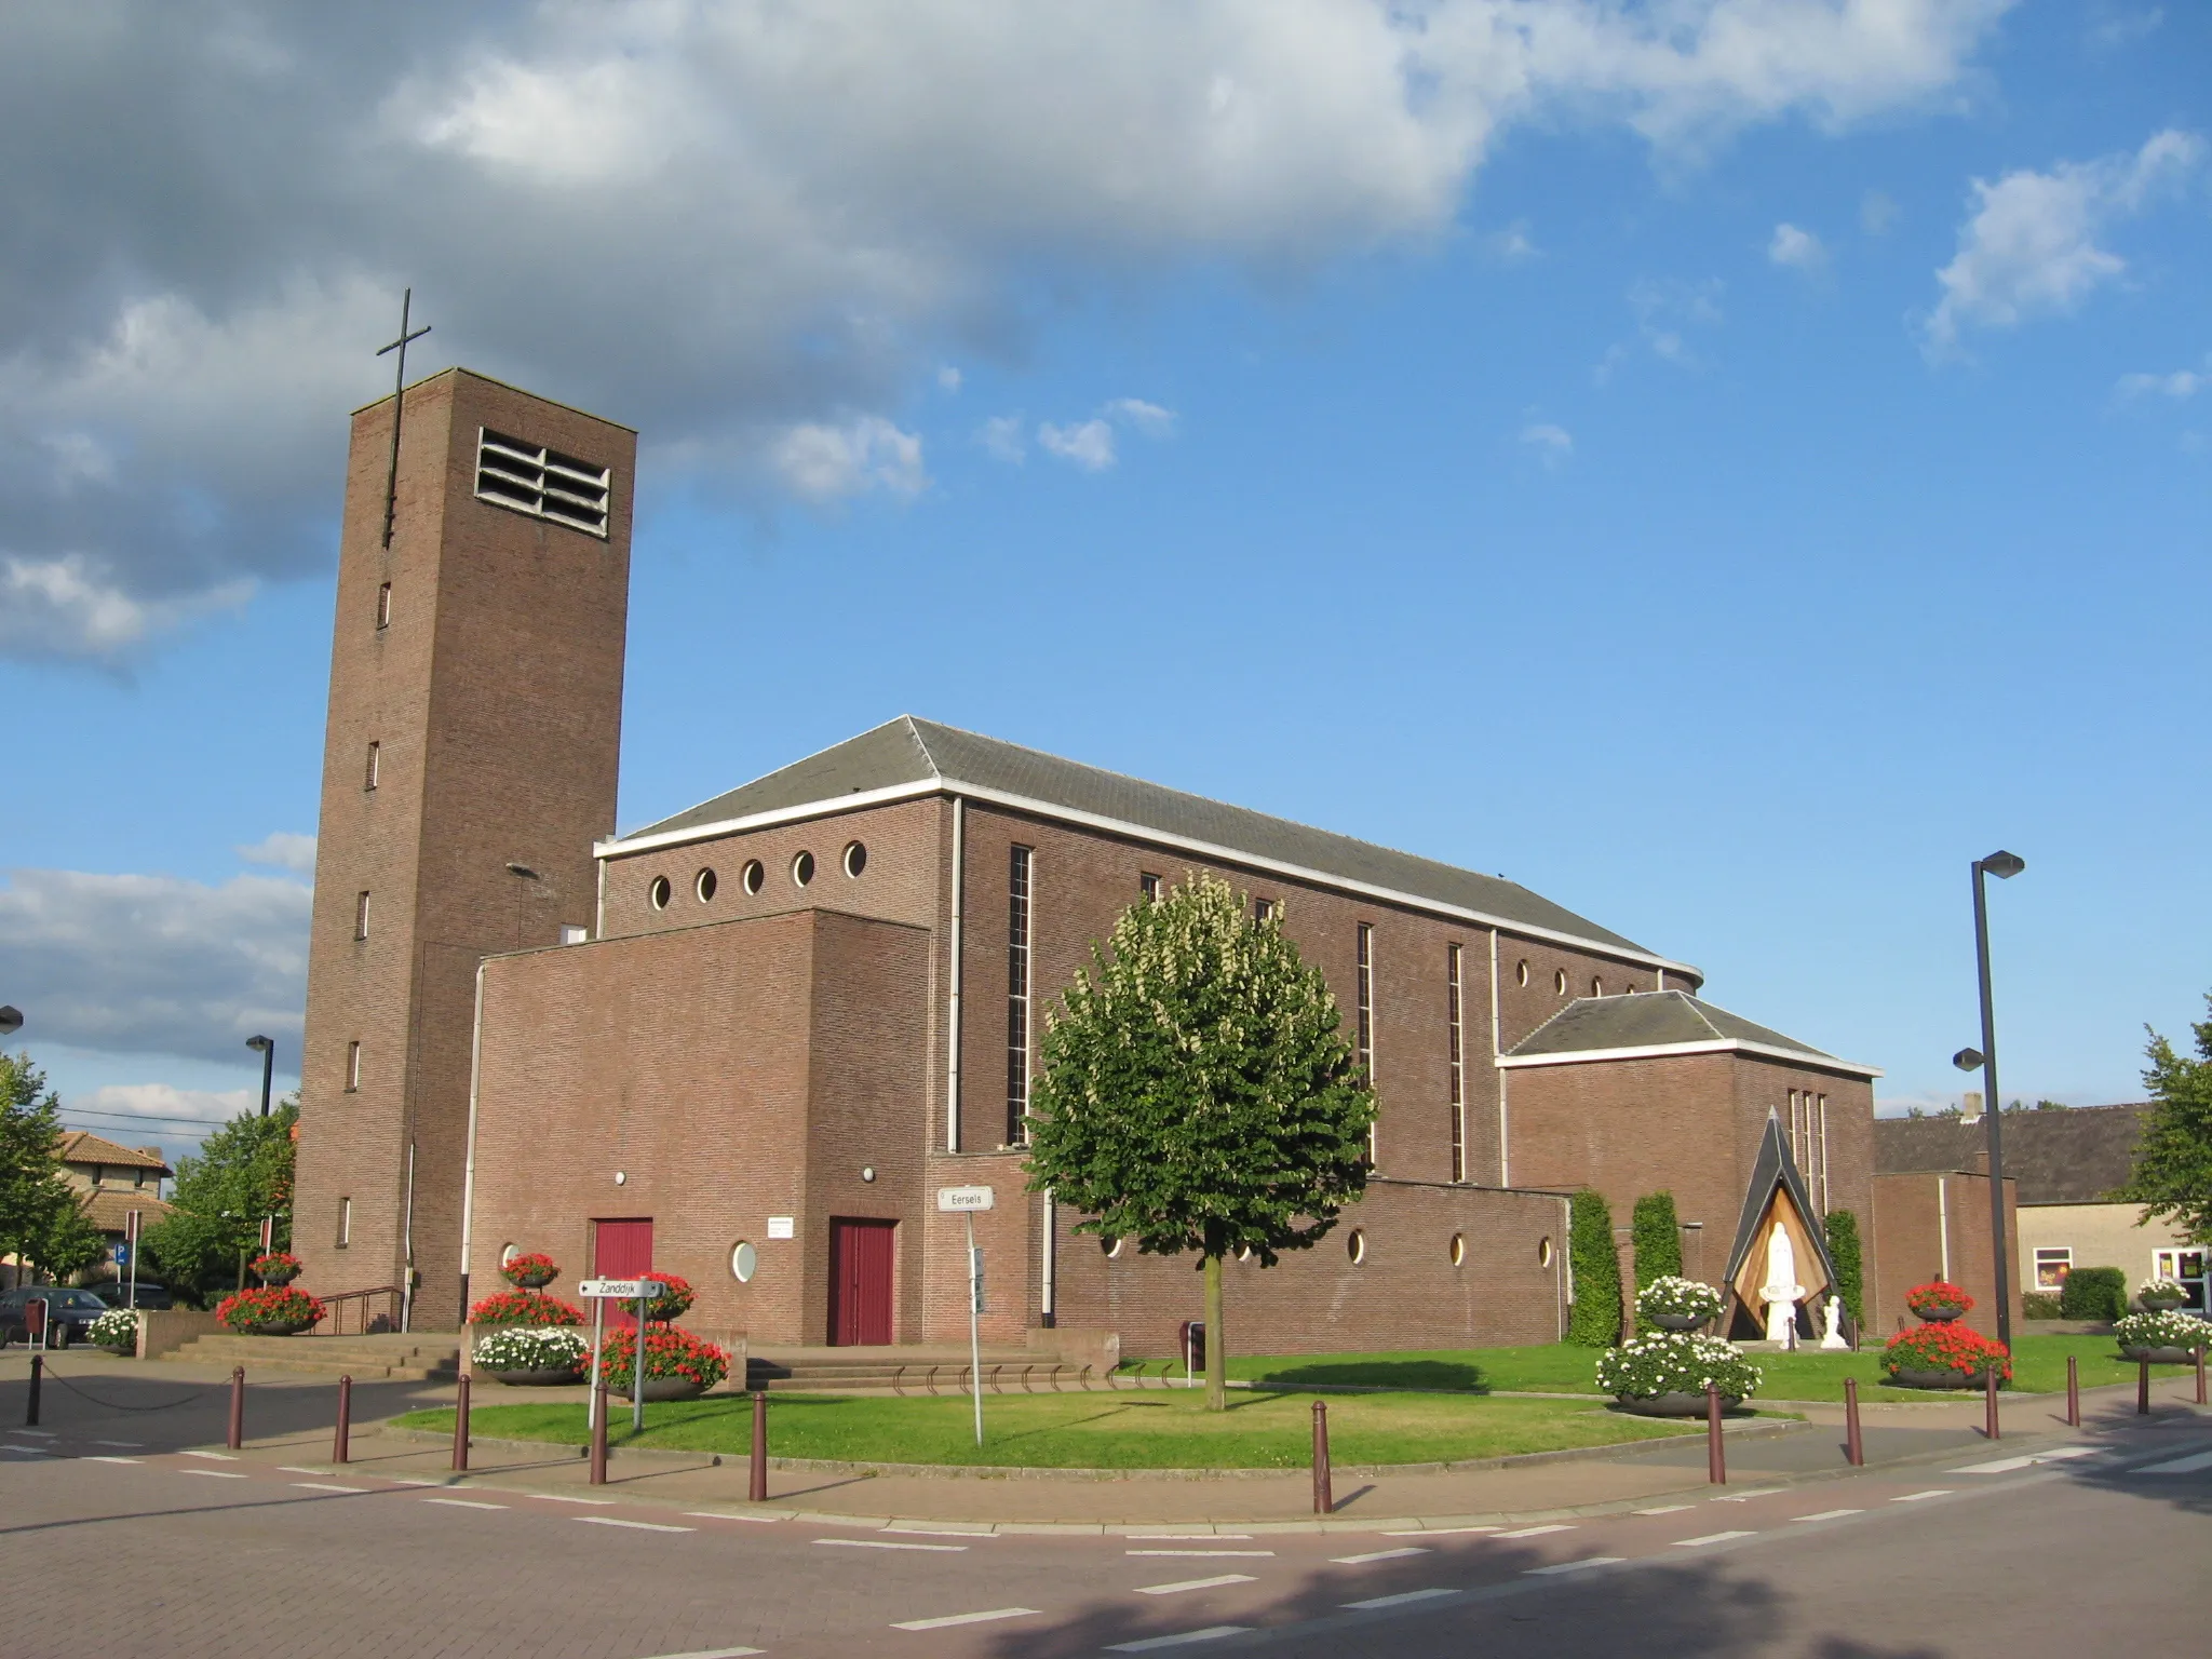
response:
M40 1040L239 1064L254 1033L296 1055L312 889L276 876L13 869L0 887L0 984Z

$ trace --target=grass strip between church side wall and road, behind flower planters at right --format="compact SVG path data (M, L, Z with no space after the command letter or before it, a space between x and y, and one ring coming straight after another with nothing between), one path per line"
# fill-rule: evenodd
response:
M2081 1363L2081 1387L2132 1383L2135 1360L2119 1358L2110 1336L2055 1336L2013 1332L2013 1387L2057 1394L2066 1387L2066 1356ZM1765 1371L1763 1396L1772 1400L1840 1400L1843 1380L1858 1378L1863 1400L1924 1398L1927 1389L1900 1389L1882 1378L1880 1349L1858 1354L1752 1354ZM1296 1354L1285 1358L1230 1354L1232 1378L1274 1387L1363 1385L1387 1389L1464 1389L1471 1394L1597 1394L1597 1349L1551 1343L1546 1347L1469 1347L1429 1354ZM1157 1363L1155 1363L1157 1369ZM2152 1376L2179 1376L2179 1367L2152 1367ZM1940 1396L1938 1396L1940 1398Z

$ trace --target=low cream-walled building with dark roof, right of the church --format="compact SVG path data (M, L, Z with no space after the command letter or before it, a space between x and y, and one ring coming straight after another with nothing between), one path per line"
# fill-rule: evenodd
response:
M2119 1267L2130 1287L2150 1274L2179 1279L2203 1310L2205 1252L2170 1221L2146 1221L2141 1206L2108 1197L2135 1170L2152 1102L2135 1102L2004 1115L2004 1177L2020 1194L2013 1274L2024 1292L2055 1294L2075 1267ZM1874 1144L1885 1172L1989 1168L1980 1113L1889 1117L1874 1126ZM1975 1217L1986 1254L1989 1210Z

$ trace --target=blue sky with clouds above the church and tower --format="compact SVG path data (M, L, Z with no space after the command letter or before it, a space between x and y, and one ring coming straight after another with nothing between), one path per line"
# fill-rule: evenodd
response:
M2203 9L1898 0L1867 35L1827 0L1493 0L1409 44L1349 0L1137 7L1110 53L993 40L956 111L984 159L927 177L916 146L973 135L918 104L787 161L814 131L761 113L759 31L546 64L542 11L487 11L440 82L241 9L294 148L460 146L372 232L274 181L259 274L128 157L31 168L108 206L0 272L35 301L0 341L33 524L0 533L0 1000L73 1121L184 1146L168 1119L257 1082L248 1031L296 1062L283 836L314 834L345 411L400 281L425 369L644 434L624 827L916 712L1504 872L1885 1066L1893 1106L1962 1086L1966 867L2000 845L2028 858L1993 894L2006 1095L2132 1099L2143 1022L2201 1018ZM951 49L936 11L900 13L907 55ZM1447 40L1484 20L1522 46ZM1588 33L1544 46L1562 20ZM675 58L681 95L626 80ZM1265 108L1228 161L1115 126L1194 66L1217 119ZM1506 69L1535 91L1489 91ZM734 137L688 115L741 91ZM546 100L588 139L555 184L613 155L666 195L650 265L555 281L471 234L540 212L513 168ZM204 139L212 177L250 135ZM812 241L759 241L761 179ZM500 307L531 281L564 288Z

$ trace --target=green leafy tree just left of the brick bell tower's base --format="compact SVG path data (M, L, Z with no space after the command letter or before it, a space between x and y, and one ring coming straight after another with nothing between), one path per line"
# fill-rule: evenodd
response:
M206 1294L261 1252L261 1219L276 1217L276 1250L292 1248L292 1152L299 1097L268 1117L239 1113L177 1159L175 1212L146 1228L146 1254L175 1290Z

